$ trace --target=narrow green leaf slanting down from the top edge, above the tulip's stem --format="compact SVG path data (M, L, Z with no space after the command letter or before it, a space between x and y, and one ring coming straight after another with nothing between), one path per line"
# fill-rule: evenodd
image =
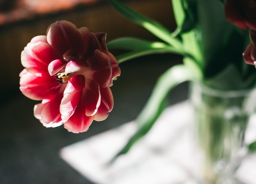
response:
M182 48L180 40L172 37L171 32L158 22L151 20L150 18L138 13L137 11L134 11L119 0L108 0L108 2L128 20L146 28L152 34L162 39L164 42L170 44L171 46L175 48Z

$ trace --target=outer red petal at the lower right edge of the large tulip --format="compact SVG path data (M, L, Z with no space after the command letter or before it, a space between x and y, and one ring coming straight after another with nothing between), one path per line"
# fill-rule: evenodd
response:
M94 120L103 121L108 117L109 112L113 109L114 100L110 88L100 88L101 105L95 114Z

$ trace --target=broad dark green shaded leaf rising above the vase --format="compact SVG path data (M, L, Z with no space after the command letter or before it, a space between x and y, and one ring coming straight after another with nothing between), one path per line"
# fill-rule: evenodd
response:
M205 78L218 74L229 63L241 64L245 36L248 37L248 33L227 21L223 2L198 0L198 15Z

